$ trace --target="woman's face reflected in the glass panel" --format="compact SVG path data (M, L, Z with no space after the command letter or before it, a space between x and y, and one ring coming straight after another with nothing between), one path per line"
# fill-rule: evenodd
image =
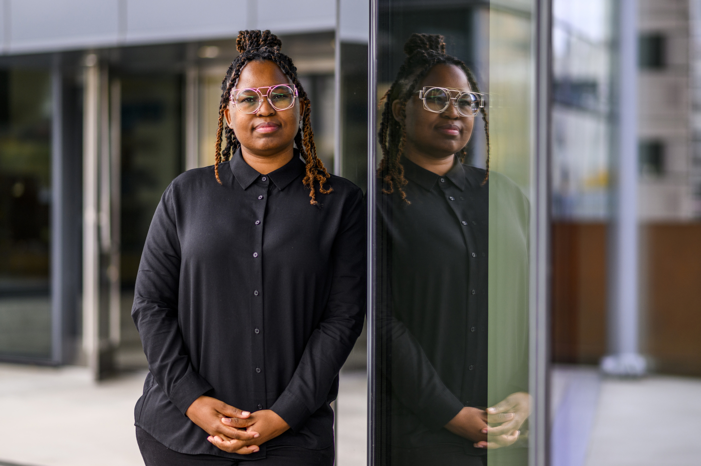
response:
M471 90L463 70L449 64L434 66L418 84L417 90L424 86ZM400 118L399 108L400 101L394 101L392 110L396 120ZM458 113L452 101L442 113L433 113L423 108L423 101L417 93L407 101L406 111L407 150L443 159L457 153L470 141L475 117L465 117Z

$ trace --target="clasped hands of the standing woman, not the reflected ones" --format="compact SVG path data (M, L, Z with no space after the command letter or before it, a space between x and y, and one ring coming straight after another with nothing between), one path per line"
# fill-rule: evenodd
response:
M207 396L198 397L185 416L207 432L207 440L218 449L241 455L259 451L261 444L290 428L270 409L250 413Z

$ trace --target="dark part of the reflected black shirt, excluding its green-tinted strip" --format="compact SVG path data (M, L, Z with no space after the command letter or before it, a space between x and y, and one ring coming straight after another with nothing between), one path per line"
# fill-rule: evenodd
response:
M445 430L465 406L487 403L489 185L458 162L444 176L402 158L407 205L381 195L391 339L395 446L457 442Z

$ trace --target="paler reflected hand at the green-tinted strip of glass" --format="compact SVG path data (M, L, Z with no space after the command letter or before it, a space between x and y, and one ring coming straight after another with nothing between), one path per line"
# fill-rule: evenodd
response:
M531 414L531 395L525 392L512 393L503 401L487 408L486 414L488 423L499 425L482 430L487 435L486 442L477 442L475 446L498 449L514 444L519 439L519 429Z

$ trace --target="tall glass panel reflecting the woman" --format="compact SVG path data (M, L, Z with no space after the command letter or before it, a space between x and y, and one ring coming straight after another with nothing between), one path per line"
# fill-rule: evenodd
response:
M532 15L378 3L376 465L528 464Z

